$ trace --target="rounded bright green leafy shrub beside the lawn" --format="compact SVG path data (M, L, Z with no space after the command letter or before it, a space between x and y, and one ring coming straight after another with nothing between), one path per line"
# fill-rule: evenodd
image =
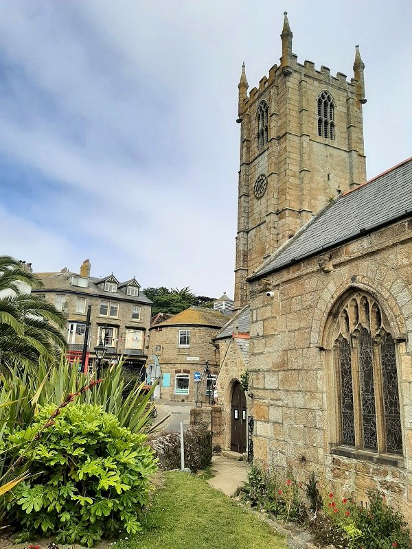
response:
M33 476L14 489L8 504L14 523L23 527L19 539L57 534L58 542L91 547L119 530L141 530L139 515L157 469L146 436L90 404L62 408L44 428L55 408L41 408L36 423L6 432L1 442L7 449L41 434L24 454Z

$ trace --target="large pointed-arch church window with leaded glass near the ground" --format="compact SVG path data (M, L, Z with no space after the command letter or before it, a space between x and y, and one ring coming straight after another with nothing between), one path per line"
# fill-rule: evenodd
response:
M339 444L402 454L396 344L385 314L358 293L335 317Z

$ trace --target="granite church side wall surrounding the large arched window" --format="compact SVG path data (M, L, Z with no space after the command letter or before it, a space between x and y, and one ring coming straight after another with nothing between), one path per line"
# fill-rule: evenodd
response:
M321 261L319 262L319 259ZM323 260L323 261L322 261ZM323 269L325 261L328 269ZM271 288L274 297L266 296ZM339 454L337 379L328 323L351 292L379 304L396 342L403 455ZM250 386L255 458L311 471L367 500L380 489L412 520L412 221L251 283Z

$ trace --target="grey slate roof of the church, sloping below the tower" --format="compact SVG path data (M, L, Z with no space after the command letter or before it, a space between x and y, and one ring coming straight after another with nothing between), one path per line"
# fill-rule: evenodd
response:
M323 208L248 280L297 263L412 215L412 158Z

